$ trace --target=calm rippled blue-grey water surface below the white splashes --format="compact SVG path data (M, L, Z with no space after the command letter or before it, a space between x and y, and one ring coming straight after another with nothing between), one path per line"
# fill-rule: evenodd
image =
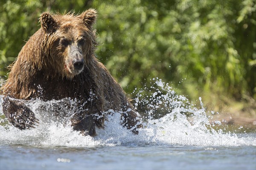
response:
M255 169L255 146L1 146L1 169Z

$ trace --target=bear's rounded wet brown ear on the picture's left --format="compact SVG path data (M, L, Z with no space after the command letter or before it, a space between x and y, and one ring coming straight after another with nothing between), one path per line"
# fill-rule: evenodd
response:
M40 17L41 27L46 33L53 33L56 31L56 21L49 12L44 12Z

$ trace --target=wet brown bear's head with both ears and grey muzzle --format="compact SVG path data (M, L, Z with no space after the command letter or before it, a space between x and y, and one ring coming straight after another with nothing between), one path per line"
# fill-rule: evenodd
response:
M80 74L93 57L96 36L92 25L97 11L88 9L79 15L41 14L44 47L52 68L58 68L62 77L72 79Z

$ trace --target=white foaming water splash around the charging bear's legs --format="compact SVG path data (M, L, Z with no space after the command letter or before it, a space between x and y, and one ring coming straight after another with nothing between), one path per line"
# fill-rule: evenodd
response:
M134 135L120 125L121 114L108 111L105 129L96 129L96 137L82 136L74 131L69 118L75 113L77 101L70 99L26 102L40 120L37 128L19 130L0 119L0 139L3 144L36 146L115 146L115 145L194 145L194 146L256 146L255 136L238 137L235 133L214 130L209 123L202 99L197 108L186 97L175 94L168 83L153 79L150 88L135 89L135 107L143 115L144 128ZM74 107L67 107L69 102ZM0 116L3 96L0 96ZM55 109L64 119L57 119Z

